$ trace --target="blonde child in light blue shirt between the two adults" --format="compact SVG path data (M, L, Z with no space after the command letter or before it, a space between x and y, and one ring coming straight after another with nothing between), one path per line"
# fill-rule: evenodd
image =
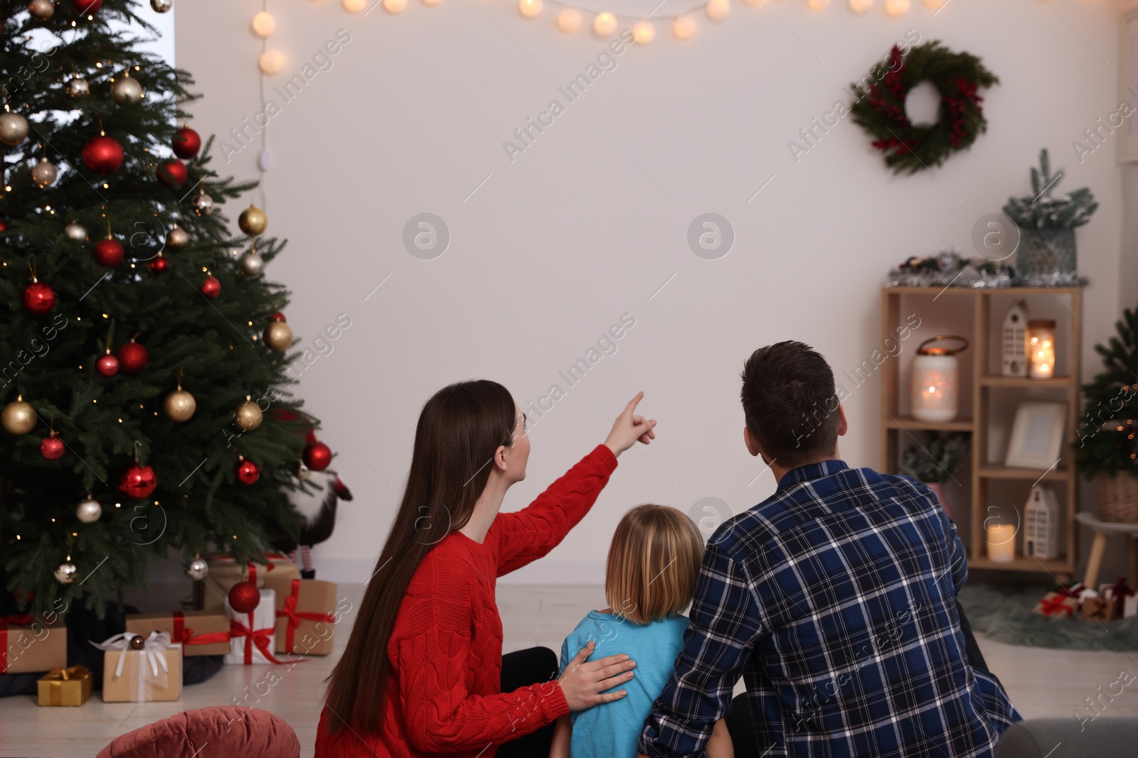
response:
M637 506L612 535L605 567L609 607L591 610L561 645L561 672L591 640L592 659L625 653L636 661L633 678L609 690L620 700L578 710L558 720L550 758L636 758L636 742L652 702L684 649L686 616L703 559L695 524L667 506ZM617 610L615 610L617 609ZM734 758L727 725L719 719L708 758Z

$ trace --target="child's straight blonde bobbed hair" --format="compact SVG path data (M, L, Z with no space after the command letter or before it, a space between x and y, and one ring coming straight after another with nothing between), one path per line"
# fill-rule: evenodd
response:
M703 538L691 518L668 506L636 506L612 535L604 599L636 624L674 616L695 595L702 560Z

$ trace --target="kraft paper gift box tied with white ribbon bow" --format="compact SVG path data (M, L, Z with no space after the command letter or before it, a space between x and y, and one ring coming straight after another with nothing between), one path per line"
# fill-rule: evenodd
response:
M105 652L102 699L105 702L151 702L182 697L182 648L165 632L151 632L141 650L132 650L133 632L92 642Z

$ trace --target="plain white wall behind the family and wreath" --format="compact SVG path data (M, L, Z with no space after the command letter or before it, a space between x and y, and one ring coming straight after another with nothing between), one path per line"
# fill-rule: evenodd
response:
M193 106L195 127L223 138L261 110L261 43L248 30L256 9L175 5L179 65L206 95ZM669 0L657 13L687 7ZM525 407L553 383L567 389L558 372L625 313L636 324L618 351L534 427L529 475L505 508L526 505L600 443L605 416L637 390L659 439L625 453L582 526L518 578L601 581L612 530L640 502L687 510L716 497L736 513L754 505L774 482L769 473L756 478L761 461L742 445L744 358L798 339L839 373L859 364L880 339L885 270L943 244L971 252L975 220L1028 191L1045 145L1069 172L1063 188L1089 185L1102 203L1078 238L1092 282L1088 373L1097 367L1091 331L1105 336L1118 317L1121 173L1113 145L1081 164L1071 147L1118 105L1120 7L1106 0L955 0L935 17L914 2L898 19L881 3L865 16L836 1L818 14L799 2L735 3L720 24L700 16L687 42L659 25L652 44L619 56L513 163L502 142L551 99L564 105L558 88L604 44L558 32L555 8L537 20L509 0L412 1L398 16L377 8L366 17L336 2L269 8L272 44L289 59L266 88L282 106L269 127L269 230L289 239L269 274L291 288L289 324L306 343L337 314L352 318L300 385L356 495L316 551L327 578L358 580L374 560L415 419L435 390L489 377ZM339 28L351 42L332 68L284 103L272 88ZM988 134L935 177L894 177L846 118L795 163L787 141L848 101L844 86L908 28L981 56L1000 77L983 93ZM228 165L216 152L215 165L255 177L258 149ZM401 241L422 211L443 217L453 235L435 260L412 257ZM714 261L685 241L707 211L737 235ZM851 464L880 464L879 394L873 381L847 402L841 450Z

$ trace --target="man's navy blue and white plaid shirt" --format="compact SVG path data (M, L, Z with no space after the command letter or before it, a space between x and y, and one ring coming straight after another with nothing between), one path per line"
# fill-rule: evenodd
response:
M711 535L638 750L703 756L742 675L762 758L991 756L1020 715L965 657L966 577L923 484L841 460L787 472Z

